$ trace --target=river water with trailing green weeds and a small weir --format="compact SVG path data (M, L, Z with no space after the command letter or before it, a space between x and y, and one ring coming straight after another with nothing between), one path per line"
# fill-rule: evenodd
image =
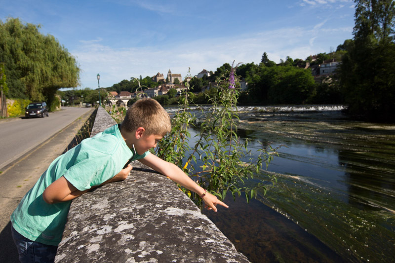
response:
M394 262L395 125L342 108L238 108L251 150L281 146L262 171L278 183L205 213L251 262Z

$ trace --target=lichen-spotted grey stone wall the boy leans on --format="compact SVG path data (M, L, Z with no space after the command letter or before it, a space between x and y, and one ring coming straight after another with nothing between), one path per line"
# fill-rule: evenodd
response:
M92 136L114 125L99 107ZM248 262L167 177L140 162L75 199L55 262Z

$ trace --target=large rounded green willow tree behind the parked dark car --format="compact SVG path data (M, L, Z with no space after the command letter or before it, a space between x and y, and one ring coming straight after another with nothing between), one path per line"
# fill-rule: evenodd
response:
M39 29L17 18L0 21L0 62L5 65L9 97L46 101L53 109L59 88L79 85L79 66L56 38Z

